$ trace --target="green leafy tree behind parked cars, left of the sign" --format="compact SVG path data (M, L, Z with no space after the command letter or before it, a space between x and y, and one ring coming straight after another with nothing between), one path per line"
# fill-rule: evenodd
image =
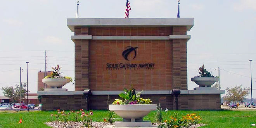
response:
M13 86L6 86L1 88L1 90L3 90L3 95L5 97L8 97L10 99L10 102L12 103L19 102L20 85L15 85L15 86L16 86L15 88ZM21 99L25 98L26 87L27 87L27 83L24 83L23 85L21 85Z

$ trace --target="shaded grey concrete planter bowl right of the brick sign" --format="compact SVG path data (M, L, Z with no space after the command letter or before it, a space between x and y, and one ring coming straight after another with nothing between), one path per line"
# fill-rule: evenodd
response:
M219 81L217 77L194 77L191 81L194 81L199 87L211 87L215 82Z

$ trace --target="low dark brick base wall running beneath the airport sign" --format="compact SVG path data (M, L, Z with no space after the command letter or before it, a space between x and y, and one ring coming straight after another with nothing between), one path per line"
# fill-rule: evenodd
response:
M149 98L152 104L161 105L162 109L176 109L175 97L173 95L141 95ZM118 95L92 95L89 97L88 106L92 110L108 109ZM86 109L84 95L42 95L42 110L80 110ZM220 94L186 94L178 97L180 110L219 110Z

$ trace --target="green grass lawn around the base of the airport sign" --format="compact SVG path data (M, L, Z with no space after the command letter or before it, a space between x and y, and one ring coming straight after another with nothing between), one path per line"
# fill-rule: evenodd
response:
M65 113L68 113L66 111ZM201 116L201 123L206 124L202 128L248 128L252 123L256 123L256 111L163 111L164 119L169 118L174 112L180 116L196 113ZM154 121L154 111L150 112L144 120ZM51 121L50 114L57 114L57 111L31 111L31 112L1 112L0 128L47 128L44 122ZM93 121L103 121L107 118L107 111L93 111ZM114 116L115 120L122 120L119 116ZM22 124L19 120L22 119ZM54 118L55 119L55 118ZM69 116L69 120L74 120Z

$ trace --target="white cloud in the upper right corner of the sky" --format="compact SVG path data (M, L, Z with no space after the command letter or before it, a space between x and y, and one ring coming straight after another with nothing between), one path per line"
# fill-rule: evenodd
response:
M240 0L233 4L233 9L236 11L256 10L256 0Z

